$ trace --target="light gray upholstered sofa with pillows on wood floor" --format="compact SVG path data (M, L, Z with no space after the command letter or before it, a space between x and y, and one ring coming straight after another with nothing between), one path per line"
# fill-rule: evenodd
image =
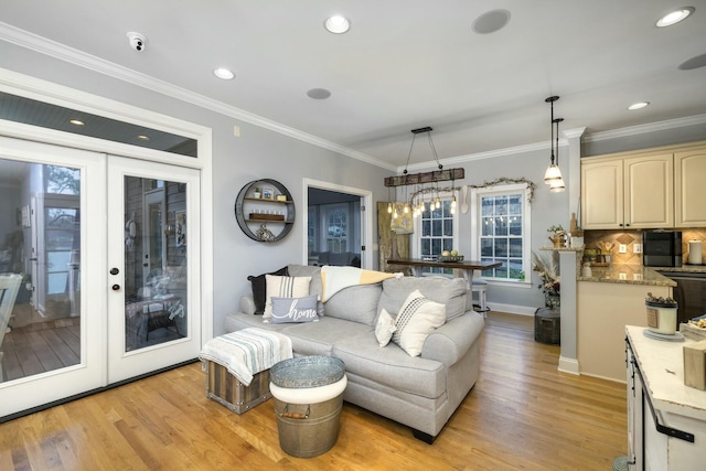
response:
M292 277L311 276L310 293L321 293L320 267L289 265L288 270ZM420 356L393 342L381 347L375 335L381 310L394 317L417 289L446 306L446 323L426 339ZM431 443L479 377L484 320L468 306L463 279L391 278L339 291L323 304L323 317L308 323L264 323L254 314L252 296L245 296L242 312L228 314L225 329L276 330L291 339L295 356L341 358L349 381L344 400L406 425Z

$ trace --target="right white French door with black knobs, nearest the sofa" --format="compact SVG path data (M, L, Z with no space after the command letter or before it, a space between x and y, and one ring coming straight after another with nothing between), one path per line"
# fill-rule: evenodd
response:
M201 350L200 172L108 157L108 382Z

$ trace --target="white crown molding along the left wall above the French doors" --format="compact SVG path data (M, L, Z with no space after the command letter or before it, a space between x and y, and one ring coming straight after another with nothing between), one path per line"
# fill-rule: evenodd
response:
M288 136L293 139L298 139L300 141L320 147L322 149L327 149L342 156L361 160L375 167L379 167L391 171L394 171L396 169L395 165L382 162L381 160L377 160L363 152L349 149L344 146L328 141L325 139L321 139L317 136L300 131L289 126L285 126L280 122L248 113L244 109L225 105L221 101L190 92L185 88L175 86L168 82L157 79L139 72L135 72L121 65L117 65L100 57L86 54L76 49L68 47L64 44L60 44L55 41L47 40L45 38L39 36L24 30L20 30L2 22L0 22L0 40L17 44L28 50L32 50L40 54L49 55L51 57L68 62L83 68L110 76L113 78L140 86L146 89L150 89L171 98L176 98L179 100L205 109L210 109L212 111L228 116L240 121L249 122L260 128L269 129L271 131Z

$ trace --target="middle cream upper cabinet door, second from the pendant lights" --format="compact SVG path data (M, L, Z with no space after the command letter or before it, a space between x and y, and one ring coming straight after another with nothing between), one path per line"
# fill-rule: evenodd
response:
M623 227L674 226L673 162L672 153L624 159Z

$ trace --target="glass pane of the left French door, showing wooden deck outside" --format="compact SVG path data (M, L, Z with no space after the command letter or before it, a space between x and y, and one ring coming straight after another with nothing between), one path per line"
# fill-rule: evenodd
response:
M0 159L0 381L81 362L81 183Z

